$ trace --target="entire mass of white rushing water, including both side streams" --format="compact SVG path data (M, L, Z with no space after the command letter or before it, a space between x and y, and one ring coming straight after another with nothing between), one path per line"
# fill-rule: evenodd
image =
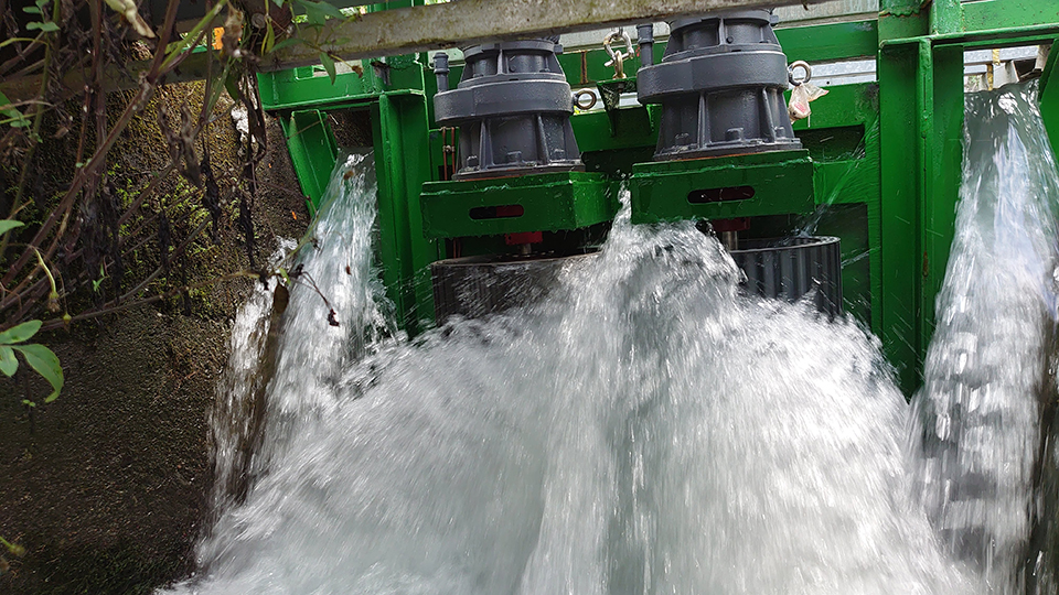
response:
M984 101L1003 110L998 96ZM995 158L969 159L1004 170L1035 150L1016 151L1016 137L998 141ZM304 281L291 292L255 480L242 505L221 498L201 571L176 592L888 595L1014 585L982 571L990 556L961 555L945 530L973 526L1005 551L1020 539L1008 530L1028 532L1055 231L1034 224L1050 212L1015 197L1033 194L1026 186L964 193L949 277L985 277L966 267L988 267L991 281L946 282L912 418L930 420L916 436L963 430L910 456L910 408L878 342L806 304L741 296L730 258L692 224L631 226L624 212L599 258L567 271L544 303L411 343L384 339L395 333L372 270L371 170L363 155L336 167L317 246L302 249L306 279L330 305ZM245 314L264 323L266 310ZM973 357L959 368L967 345ZM991 349L1020 364L1002 370ZM983 387L993 387L998 420L951 414L953 394ZM971 436L988 439L993 454ZM984 461L980 475L1004 485L976 500L988 511L973 521L952 520L966 517L949 493L932 491L969 476L946 463L938 475L945 457L975 470Z

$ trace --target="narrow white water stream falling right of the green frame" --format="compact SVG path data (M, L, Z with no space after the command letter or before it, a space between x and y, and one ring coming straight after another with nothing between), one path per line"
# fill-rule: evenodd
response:
M955 238L916 398L918 483L948 549L1015 592L1052 392L1059 188L1035 86L970 95L966 112Z

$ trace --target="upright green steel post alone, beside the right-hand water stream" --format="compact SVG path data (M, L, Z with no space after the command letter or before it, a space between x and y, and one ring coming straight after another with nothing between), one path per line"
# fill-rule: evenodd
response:
M929 37L882 45L882 344L906 392L933 333L961 178L963 48Z

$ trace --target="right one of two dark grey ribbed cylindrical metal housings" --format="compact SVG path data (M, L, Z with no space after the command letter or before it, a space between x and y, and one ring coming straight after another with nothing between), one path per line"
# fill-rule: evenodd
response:
M637 75L641 104L661 104L656 161L802 148L787 113L787 56L768 10L670 23L661 64Z

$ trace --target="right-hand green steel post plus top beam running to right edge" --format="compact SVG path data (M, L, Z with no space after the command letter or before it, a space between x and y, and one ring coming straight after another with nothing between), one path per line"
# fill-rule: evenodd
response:
M879 18L882 326L902 387L920 382L962 167L964 52L1050 43L1059 1L884 0ZM1048 109L1055 109L1047 106Z

